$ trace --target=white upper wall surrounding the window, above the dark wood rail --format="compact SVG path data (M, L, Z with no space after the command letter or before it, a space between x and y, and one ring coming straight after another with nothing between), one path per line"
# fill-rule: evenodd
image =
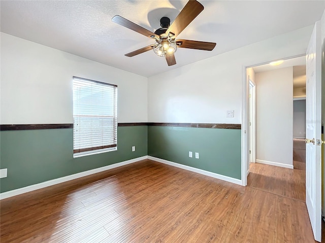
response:
M1 124L73 123L73 76L118 86L119 123L147 121L146 77L1 33Z

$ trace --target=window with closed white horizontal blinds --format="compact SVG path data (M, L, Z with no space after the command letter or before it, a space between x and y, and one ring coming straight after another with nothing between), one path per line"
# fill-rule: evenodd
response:
M117 86L74 76L74 157L116 148Z

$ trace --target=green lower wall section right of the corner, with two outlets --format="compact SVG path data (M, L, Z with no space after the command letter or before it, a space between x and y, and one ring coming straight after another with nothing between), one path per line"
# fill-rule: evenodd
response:
M240 180L241 130L148 126L148 155Z

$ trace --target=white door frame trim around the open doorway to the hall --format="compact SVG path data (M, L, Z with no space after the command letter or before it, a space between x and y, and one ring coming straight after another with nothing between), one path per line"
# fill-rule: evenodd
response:
M243 66L243 95L242 95L242 185L247 185L247 165L249 161L249 80L247 78L246 70L247 68L261 66L264 64L269 64L270 62L278 61L278 60L287 60L293 59L296 57L306 56L306 53L301 53L295 56L290 57L279 57L274 60L270 60L268 62L258 63L254 65Z

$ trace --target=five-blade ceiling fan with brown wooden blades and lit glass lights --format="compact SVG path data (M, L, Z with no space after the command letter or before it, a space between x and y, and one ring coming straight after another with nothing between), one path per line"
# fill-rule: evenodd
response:
M153 49L156 55L166 58L168 66L172 66L176 64L174 53L177 48L212 51L215 47L216 43L212 42L198 42L188 39L175 40L176 36L179 35L183 29L203 11L203 9L204 7L198 1L189 0L172 24L170 24L171 21L168 17L161 18L161 28L154 31L154 33L119 15L115 15L112 21L149 38L153 38L156 41L155 44L127 53L125 56L133 57Z

